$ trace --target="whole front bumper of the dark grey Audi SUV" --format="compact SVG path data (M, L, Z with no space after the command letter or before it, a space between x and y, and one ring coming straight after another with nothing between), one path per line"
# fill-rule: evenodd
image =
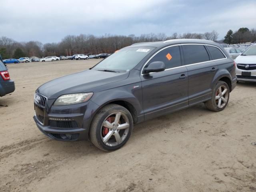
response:
M99 106L91 101L69 106L53 106L54 101L55 99L47 100L45 108L34 103L33 118L39 130L54 140L88 140L90 124Z

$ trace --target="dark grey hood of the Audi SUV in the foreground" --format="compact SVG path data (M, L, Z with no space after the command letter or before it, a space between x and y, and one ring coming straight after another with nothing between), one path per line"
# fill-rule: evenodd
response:
M114 73L85 70L49 81L38 88L38 92L48 99L56 99L64 94L82 93L93 88L124 80L129 73ZM107 89L107 87L106 87Z

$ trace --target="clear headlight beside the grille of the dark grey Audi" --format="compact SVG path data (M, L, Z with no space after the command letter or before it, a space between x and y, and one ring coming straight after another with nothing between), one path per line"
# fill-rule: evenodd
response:
M93 93L74 93L62 95L54 102L54 106L72 105L88 101Z

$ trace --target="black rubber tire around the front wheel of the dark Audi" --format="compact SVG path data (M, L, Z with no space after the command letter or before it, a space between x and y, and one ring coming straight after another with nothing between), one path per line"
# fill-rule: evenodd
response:
M122 140L122 142L120 144L117 144L116 146L108 146L107 144L105 144L102 141L102 137L103 137L102 136L102 128L103 128L102 124L106 120L106 118L108 118L111 114L113 114L115 112L120 112L126 116L127 120L129 121L129 129L126 134L123 133L122 137L124 136L124 140ZM118 131L118 127L116 127L116 128L117 128L116 131ZM123 106L120 106L117 104L108 104L108 105L104 106L102 109L100 109L92 120L92 124L90 127L90 133L89 133L90 141L92 142L92 144L94 144L100 150L114 151L114 150L117 150L117 149L121 148L122 146L124 146L124 144L126 144L128 139L130 138L130 135L132 134L132 130L133 130L133 119L132 119L132 115L130 114L130 112ZM112 129L111 129L111 131L112 131ZM114 131L114 128L113 128L113 131ZM122 131L122 130L119 130L118 134L120 133L120 131ZM124 131L125 131L125 129L124 129ZM114 134L112 134L112 136L110 137L110 139L111 138L115 139Z

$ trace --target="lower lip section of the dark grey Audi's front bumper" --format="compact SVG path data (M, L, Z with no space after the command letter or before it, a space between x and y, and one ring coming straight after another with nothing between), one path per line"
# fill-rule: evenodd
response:
M72 128L72 129L63 129L63 128L54 128L51 126L43 126L36 116L33 117L36 122L36 126L38 129L48 136L51 139L58 141L76 141L76 140L84 140L87 138L88 130L85 128ZM65 139L65 135L70 134L72 136L71 139Z

